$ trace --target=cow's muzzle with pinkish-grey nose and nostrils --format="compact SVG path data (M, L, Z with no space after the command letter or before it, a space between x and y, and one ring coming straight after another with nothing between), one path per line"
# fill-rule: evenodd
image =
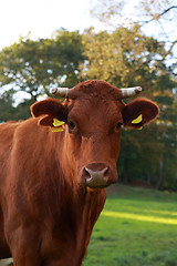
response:
M82 183L91 188L102 188L117 181L111 167L104 163L92 163L82 171Z

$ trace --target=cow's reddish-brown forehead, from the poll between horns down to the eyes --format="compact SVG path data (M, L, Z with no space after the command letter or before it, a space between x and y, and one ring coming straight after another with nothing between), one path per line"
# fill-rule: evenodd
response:
M69 102L69 120L105 126L113 121L122 122L124 103L115 99L114 86L103 81L86 81L79 83L75 89L79 96Z

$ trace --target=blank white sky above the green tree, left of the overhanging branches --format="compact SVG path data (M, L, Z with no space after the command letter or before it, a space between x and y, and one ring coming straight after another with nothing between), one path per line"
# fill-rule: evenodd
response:
M0 49L28 32L35 39L60 28L82 32L95 25L91 8L92 0L0 0Z

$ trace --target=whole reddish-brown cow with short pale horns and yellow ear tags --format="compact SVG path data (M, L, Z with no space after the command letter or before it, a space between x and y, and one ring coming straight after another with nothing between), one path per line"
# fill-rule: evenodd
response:
M63 104L37 102L32 119L0 126L0 258L82 264L104 187L117 181L122 125L138 129L158 114L149 100L122 101L139 91L86 81L54 90L67 98Z

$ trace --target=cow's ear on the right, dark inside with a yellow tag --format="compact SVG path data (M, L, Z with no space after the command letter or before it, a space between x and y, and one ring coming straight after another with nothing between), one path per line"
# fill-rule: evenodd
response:
M158 106L147 99L136 99L123 109L124 126L140 129L158 115Z

